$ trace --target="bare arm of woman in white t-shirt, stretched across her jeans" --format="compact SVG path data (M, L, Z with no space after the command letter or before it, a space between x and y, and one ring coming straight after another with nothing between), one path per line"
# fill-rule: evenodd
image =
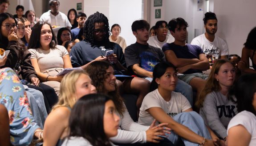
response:
M193 131L191 131L186 126L183 126L179 124L178 122L175 122L170 116L168 116L162 108L160 107L151 107L148 111L158 122L161 123L168 123L167 127L171 128L176 134L179 136L187 139L190 142L201 144L203 142L203 137L195 134ZM205 143L205 146L210 146L213 143L207 139L207 142Z

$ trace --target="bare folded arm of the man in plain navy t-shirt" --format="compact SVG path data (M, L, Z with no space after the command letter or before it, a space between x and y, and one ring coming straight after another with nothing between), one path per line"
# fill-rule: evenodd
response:
M166 60L170 63L172 63L175 67L182 67L188 64L194 64L200 62L199 59L182 59L182 58L177 58L175 55L174 51L167 50L164 52L166 56Z

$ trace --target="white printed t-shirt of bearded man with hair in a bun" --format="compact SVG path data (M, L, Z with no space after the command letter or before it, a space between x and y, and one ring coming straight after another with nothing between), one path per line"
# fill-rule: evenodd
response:
M191 41L191 44L201 47L206 57L211 59L212 62L214 62L215 59L219 59L220 56L228 55L227 43L218 36L215 36L214 41L210 42L205 37L205 34L202 34L195 37Z

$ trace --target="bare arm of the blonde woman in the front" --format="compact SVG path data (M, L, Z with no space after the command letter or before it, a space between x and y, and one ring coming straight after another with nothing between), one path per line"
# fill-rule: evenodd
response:
M57 107L45 120L44 145L55 146L58 140L68 135L70 110L67 107Z

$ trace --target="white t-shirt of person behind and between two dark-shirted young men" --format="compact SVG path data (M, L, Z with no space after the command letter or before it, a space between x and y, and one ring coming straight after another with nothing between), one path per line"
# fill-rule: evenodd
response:
M166 39L163 41L163 42L160 42L158 39L157 39L157 36L150 36L147 43L150 45L150 46L154 46L154 47L159 47L162 49L163 45L165 43L172 43L174 42L174 37L171 36L170 34L167 34L166 36Z

